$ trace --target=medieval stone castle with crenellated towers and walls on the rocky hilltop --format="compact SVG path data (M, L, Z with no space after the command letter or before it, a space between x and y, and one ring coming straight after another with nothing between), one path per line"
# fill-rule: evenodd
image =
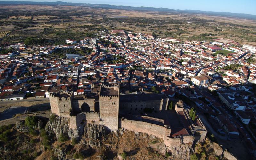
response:
M155 135L162 138L166 146L184 143L192 145L194 141L193 135L184 130L181 130L184 132L182 137L178 134L175 138L171 137L168 120L138 116L145 108L156 114L166 111L169 98L163 94L120 95L118 85L102 85L98 93L76 96L73 95L73 92L53 93L49 98L52 113L69 118L70 129L76 129L86 124L104 125L110 130L123 128ZM204 132L205 135L207 132L204 127L198 131Z

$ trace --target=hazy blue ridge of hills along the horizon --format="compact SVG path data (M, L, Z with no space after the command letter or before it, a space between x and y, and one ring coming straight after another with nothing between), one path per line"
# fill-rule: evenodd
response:
M154 8L154 7L132 7L132 6L116 6L108 4L89 4L89 3L71 3L71 2L29 2L29 1L0 1L0 5L4 4L26 4L26 5L70 5L70 6L84 6L84 7L96 7L104 9L120 9L120 10L136 10L136 11L157 11L168 13L188 13L188 14L204 14L210 16L222 16L222 17L234 17L256 20L256 15L241 14L241 13L229 13L229 12L212 12L212 11L196 11L196 10L174 10L168 8Z

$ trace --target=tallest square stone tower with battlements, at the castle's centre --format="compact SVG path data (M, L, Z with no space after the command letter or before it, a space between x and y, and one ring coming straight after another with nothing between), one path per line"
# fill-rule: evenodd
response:
M111 130L118 129L119 85L100 87L100 119Z

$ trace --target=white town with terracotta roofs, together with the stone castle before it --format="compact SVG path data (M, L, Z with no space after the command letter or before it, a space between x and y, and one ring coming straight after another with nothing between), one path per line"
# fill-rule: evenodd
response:
M2 44L1 101L49 98L70 129L122 128L155 135L166 146L192 146L208 130L256 153L255 46L124 30L62 45L30 40Z

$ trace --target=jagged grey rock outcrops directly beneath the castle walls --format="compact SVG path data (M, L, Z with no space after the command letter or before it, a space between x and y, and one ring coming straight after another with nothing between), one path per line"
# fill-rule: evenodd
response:
M59 135L68 134L69 138L76 138L79 141L79 144L86 145L91 148L102 148L107 146L112 150L116 149L116 145L124 139L123 134L128 131L117 130L112 132L107 132L102 125L95 125L95 124L87 124L85 126L81 126L77 129L69 129L69 119L57 116L54 120L49 120L45 126L45 131L50 134L55 134L57 139ZM131 131L129 131L131 132ZM134 141L141 140L141 141L149 141L147 144L148 148L154 148L155 152L165 155L166 152L171 152L170 158L173 159L189 159L191 148L187 145L181 146L173 146L173 147L166 147L164 142L160 139L157 140L156 144L150 143L150 141L154 141L157 138L153 135L147 135L145 133L139 132L131 132L133 133L133 137L129 137ZM109 143L111 142L111 143ZM127 144L129 145L129 144ZM125 148L124 148L125 149ZM118 149L116 150L118 152ZM65 154L63 151L58 149L54 150L56 156L60 159L66 159Z

